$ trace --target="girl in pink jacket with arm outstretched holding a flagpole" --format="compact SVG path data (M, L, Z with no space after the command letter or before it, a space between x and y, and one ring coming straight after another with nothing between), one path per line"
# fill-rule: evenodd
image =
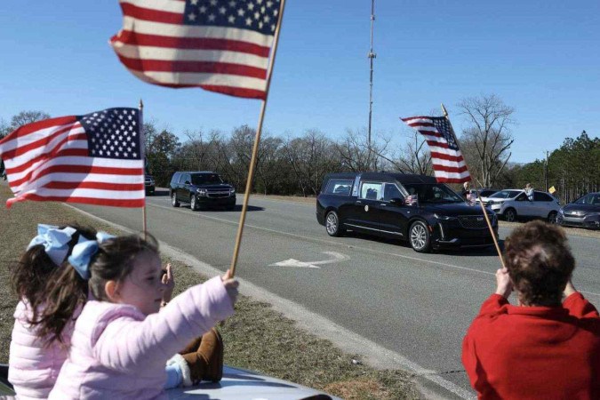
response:
M158 313L164 285L153 240L83 241L68 261L73 269L55 292L68 298L81 281L76 275L84 276L96 300L87 301L77 318L51 399L166 398L165 362L234 311L237 282L228 272L188 289Z

